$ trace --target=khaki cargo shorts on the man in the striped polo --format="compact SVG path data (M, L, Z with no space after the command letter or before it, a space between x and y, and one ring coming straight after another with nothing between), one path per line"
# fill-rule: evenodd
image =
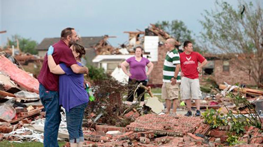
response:
M178 99L179 97L179 83L172 85L171 83L163 82L162 99Z

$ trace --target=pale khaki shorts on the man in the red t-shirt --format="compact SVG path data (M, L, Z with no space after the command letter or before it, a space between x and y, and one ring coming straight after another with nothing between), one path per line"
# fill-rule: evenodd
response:
M199 79L191 79L187 77L182 77L181 79L181 99L201 99L202 93L199 86Z

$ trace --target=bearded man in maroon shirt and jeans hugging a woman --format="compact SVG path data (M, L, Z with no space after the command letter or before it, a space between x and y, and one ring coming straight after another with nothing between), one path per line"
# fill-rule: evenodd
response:
M86 66L77 65L77 62L69 48L71 44L76 43L78 36L74 28L66 28L61 31L60 41L53 44L54 53L52 54L55 63L65 63L76 74L89 72ZM58 128L61 120L59 96L58 96L59 75L52 74L48 67L47 55L44 58L43 65L38 75L39 96L45 107L45 126L44 126L44 147L58 147Z

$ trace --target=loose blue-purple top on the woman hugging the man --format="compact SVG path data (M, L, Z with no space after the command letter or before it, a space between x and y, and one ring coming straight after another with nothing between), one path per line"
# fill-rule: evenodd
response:
M84 75L75 74L64 63L59 65L66 73L59 76L59 104L69 112L71 108L89 102L89 96L83 86Z

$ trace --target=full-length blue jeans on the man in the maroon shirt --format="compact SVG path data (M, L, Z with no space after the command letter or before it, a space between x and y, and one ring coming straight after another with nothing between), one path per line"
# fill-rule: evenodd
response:
M45 107L44 147L58 147L58 128L61 121L57 91L49 91L39 84L40 100Z

